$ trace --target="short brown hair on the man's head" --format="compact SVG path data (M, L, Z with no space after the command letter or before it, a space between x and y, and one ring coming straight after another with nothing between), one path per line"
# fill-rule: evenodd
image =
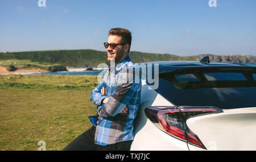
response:
M128 53L130 52L130 48L131 48L131 32L128 29L112 28L109 31L109 36L110 35L121 36L122 37L122 43L123 44L129 44Z

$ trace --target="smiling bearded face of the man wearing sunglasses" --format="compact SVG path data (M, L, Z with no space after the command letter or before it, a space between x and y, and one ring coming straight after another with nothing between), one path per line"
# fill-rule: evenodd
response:
M123 44L122 37L117 35L110 35L108 39L108 43L116 43L116 44ZM126 57L127 53L127 46L126 45L117 45L114 49L110 48L110 46L106 49L106 52L108 53L108 61L111 59L115 59L115 64L122 61L123 58Z

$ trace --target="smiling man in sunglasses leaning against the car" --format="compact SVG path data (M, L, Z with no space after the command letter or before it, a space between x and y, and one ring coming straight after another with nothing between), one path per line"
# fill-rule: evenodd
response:
M93 126L64 150L130 150L142 88L141 78L129 57L131 32L123 28L110 29L104 46L108 61L113 63L90 95L97 106L97 116L89 117Z

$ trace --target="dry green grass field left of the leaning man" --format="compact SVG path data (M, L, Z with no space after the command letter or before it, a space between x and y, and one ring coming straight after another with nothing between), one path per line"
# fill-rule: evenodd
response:
M0 75L0 150L63 150L91 127L93 75Z

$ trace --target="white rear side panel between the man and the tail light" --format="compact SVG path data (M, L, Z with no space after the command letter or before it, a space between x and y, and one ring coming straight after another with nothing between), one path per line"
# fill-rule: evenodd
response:
M188 150L187 143L172 138L148 120L144 109L158 105L172 106L169 101L142 82L141 105L134 121L135 138L131 144L131 150Z

